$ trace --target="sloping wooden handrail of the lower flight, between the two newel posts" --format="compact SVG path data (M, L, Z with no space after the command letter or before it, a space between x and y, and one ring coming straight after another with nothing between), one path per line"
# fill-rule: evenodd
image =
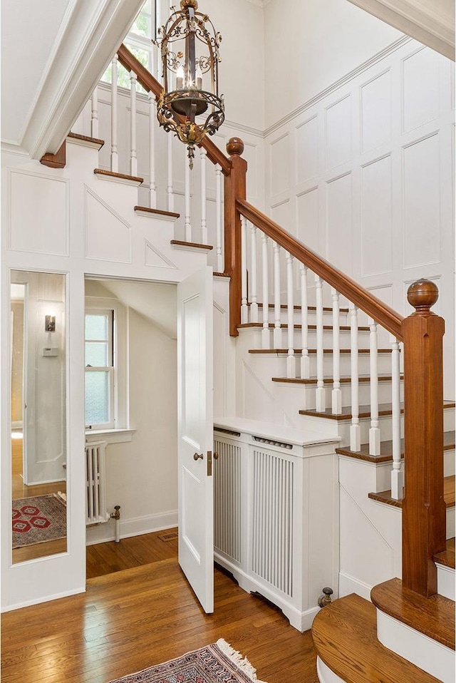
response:
M237 200L237 209L244 217L251 223L259 227L268 237L271 237L284 250L293 255L296 259L304 263L316 275L319 275L325 282L337 289L340 294L356 304L376 322L380 323L388 329L388 332L394 334L396 339L403 341L403 334L401 324L403 316L395 312L387 304L383 303L367 289L361 287L348 275L341 272L331 263L328 263L323 257L316 254L316 252L306 247L302 242L296 240L296 237L290 235L289 232L283 230L271 218L268 218L264 213L249 204L246 200Z

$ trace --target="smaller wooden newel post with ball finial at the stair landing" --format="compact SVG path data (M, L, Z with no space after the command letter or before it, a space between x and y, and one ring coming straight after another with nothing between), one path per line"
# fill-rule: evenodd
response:
M227 153L231 173L224 182L224 232L225 270L231 277L229 284L229 334L237 337L241 324L241 217L236 210L236 200L246 199L247 161L241 158L244 143L231 138Z

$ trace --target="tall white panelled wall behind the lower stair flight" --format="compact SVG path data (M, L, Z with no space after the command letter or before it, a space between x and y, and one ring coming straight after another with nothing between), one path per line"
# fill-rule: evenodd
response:
M267 212L282 227L403 315L411 312L408 286L420 277L436 282L434 310L447 321L448 399L455 395L452 83L447 58L403 38L272 128L265 150Z

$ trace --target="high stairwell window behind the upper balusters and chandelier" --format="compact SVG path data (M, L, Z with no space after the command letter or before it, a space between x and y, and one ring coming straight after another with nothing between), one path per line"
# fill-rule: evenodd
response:
M155 0L153 2L152 0L145 1L125 41L123 41L130 52L142 63L142 66L145 66L150 72L152 72L151 40L155 37L155 14L152 14L152 4L155 8ZM153 9L153 12L155 13L155 9ZM112 83L112 71L113 67L110 64L101 80L105 81L105 83ZM130 88L130 73L120 63L118 63L117 83L120 88ZM136 83L136 90L140 93L145 93L140 83Z

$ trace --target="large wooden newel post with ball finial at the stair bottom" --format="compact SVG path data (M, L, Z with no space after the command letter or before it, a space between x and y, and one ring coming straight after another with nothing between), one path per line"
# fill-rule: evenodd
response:
M434 282L410 285L415 308L403 320L405 400L405 498L402 506L403 585L421 595L437 592L432 556L445 549L443 498L443 364L445 321L430 308Z

